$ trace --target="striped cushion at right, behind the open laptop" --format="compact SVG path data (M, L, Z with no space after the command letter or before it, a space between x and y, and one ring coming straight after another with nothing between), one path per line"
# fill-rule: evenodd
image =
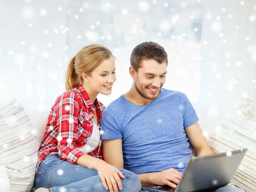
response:
M248 148L231 182L245 191L256 191L256 100L242 99L216 128L208 144L214 153Z

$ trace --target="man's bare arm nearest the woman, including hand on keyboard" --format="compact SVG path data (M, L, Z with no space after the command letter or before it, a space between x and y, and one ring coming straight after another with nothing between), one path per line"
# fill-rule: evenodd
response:
M122 138L102 140L102 153L104 161L123 169L124 159L122 154ZM182 173L175 169L167 169L162 172L144 173L138 176L142 186L157 184L176 187L172 182L178 184L182 177Z

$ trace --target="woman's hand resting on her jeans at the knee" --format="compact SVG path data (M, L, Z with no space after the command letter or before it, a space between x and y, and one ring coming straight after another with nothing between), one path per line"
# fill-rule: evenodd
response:
M120 178L124 179L125 176L116 167L105 161L101 161L97 164L96 170L98 171L99 178L106 190L109 189L110 192L118 192L118 189L122 190Z

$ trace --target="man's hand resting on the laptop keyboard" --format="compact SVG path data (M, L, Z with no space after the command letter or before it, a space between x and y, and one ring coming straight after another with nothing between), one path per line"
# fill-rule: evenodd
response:
M173 184L172 182L179 184L182 175L183 174L181 172L171 168L162 172L151 173L149 176L149 182L156 185L168 185L176 188L177 185Z

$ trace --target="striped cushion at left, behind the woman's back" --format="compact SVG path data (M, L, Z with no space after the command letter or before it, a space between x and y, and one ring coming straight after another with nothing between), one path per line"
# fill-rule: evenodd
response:
M35 178L39 143L23 107L15 99L0 108L0 160L11 191L30 191Z

